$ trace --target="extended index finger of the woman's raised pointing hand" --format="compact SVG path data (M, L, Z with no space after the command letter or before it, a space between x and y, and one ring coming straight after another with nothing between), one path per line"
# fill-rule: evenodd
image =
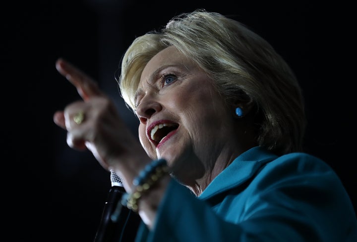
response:
M73 84L83 100L88 100L90 97L103 96L97 83L92 78L62 58L56 61L56 69Z

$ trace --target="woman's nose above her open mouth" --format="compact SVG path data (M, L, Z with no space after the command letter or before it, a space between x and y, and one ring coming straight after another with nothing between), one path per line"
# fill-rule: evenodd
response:
M147 120L157 112L162 110L161 103L153 94L146 94L141 98L140 104L136 107L136 115L139 117L140 123L146 124Z

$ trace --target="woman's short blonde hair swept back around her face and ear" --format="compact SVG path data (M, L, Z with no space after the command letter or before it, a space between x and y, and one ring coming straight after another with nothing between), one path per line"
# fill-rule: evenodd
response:
M306 120L296 76L285 60L240 22L203 9L174 17L137 37L121 61L120 94L132 110L141 72L158 52L175 46L213 80L228 102L253 101L257 142L277 154L302 150Z

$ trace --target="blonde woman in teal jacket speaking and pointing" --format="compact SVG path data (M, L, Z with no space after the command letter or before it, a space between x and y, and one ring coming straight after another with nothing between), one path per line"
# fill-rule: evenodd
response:
M302 152L293 71L239 22L197 10L133 41L119 87L141 144L93 80L62 59L57 69L83 101L54 121L122 179L137 241L357 240L338 176Z

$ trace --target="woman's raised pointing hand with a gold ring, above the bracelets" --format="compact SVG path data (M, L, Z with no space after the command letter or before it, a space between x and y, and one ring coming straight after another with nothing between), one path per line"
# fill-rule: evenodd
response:
M54 122L67 131L67 144L78 150L88 148L105 169L128 171L124 180L130 180L135 175L132 166L143 166L150 158L119 117L114 102L72 64L58 59L56 68L83 99L54 114Z

